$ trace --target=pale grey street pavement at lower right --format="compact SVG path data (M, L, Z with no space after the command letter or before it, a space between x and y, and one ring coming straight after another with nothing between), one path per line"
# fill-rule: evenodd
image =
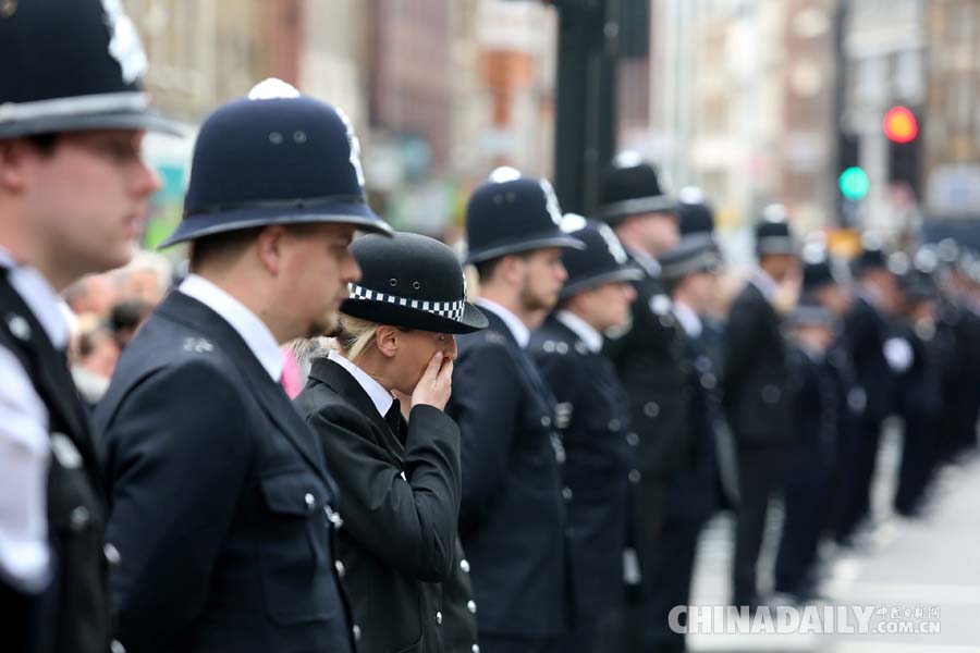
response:
M980 653L980 459L944 470L924 515L903 519L891 510L899 451L899 429L891 426L878 461L874 528L858 538L860 544L855 549L835 551L830 545L821 552L824 565L820 593L825 602L814 605L820 614L828 606L832 611L858 606L870 619L868 632L846 632L856 629L858 621L852 618L830 633L751 633L746 631L751 628L743 628L738 632L690 634L688 648L728 652ZM763 589L772 584L781 520L782 509L775 506L760 564ZM731 518L723 515L702 535L694 605L724 605L728 601L732 530ZM776 599L773 603L786 602Z

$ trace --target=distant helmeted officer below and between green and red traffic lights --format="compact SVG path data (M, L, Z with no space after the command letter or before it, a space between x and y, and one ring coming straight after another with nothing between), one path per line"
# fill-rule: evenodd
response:
M836 525L838 543L850 544L858 525L870 510L871 480L878 457L881 427L892 407L892 366L885 358L890 316L898 300L898 284L887 269L880 235L862 236L855 267L855 298L844 318L844 342L854 361L858 384L865 393L865 410L841 469L844 506ZM901 361L896 361L898 364Z

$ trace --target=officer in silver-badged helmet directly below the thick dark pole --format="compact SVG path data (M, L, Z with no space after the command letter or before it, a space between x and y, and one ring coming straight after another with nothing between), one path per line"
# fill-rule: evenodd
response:
M605 224L567 214L563 227L586 249L563 252L568 279L559 310L531 334L529 352L568 416L562 435L576 613L560 650L592 653L608 650L623 603L627 475L638 473L626 391L602 355L602 334L628 322L636 298L629 282L642 273Z

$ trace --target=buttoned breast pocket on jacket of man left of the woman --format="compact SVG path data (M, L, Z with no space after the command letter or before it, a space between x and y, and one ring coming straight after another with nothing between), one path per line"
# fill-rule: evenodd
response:
M341 609L326 507L330 494L314 473L278 473L260 481L267 523L260 535L266 609L281 625L326 620Z

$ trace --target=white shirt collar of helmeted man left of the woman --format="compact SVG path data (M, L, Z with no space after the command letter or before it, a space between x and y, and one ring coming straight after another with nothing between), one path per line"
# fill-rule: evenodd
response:
M279 383L282 379L283 354L279 348L279 343L275 342L275 336L258 316L198 274L188 274L179 289L213 310L237 331L262 368L269 372L273 381Z

